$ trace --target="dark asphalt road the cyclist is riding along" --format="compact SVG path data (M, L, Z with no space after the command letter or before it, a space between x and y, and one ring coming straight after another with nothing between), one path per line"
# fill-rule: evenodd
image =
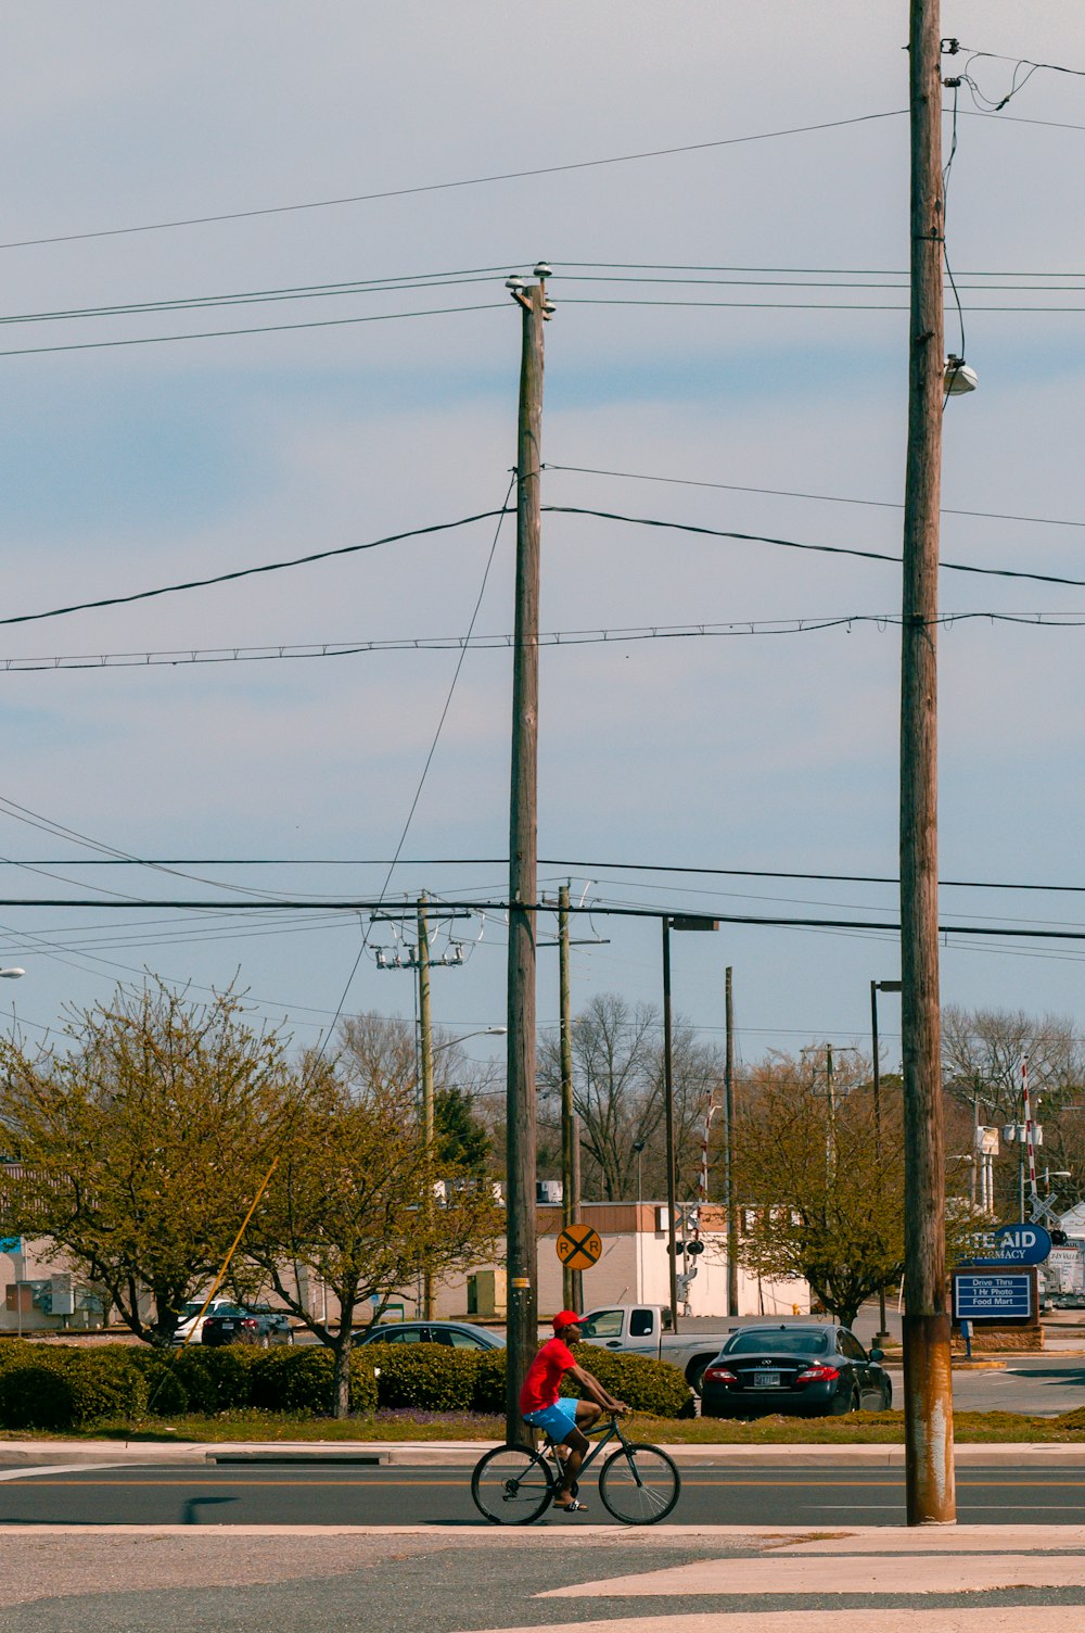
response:
M26 1473L0 1483L7 1525L476 1525L467 1468L178 1470L176 1465ZM607 1524L594 1478L586 1519ZM1085 1524L1080 1468L966 1468L958 1471L964 1524ZM896 1525L904 1520L899 1470L842 1470L783 1463L767 1470L690 1468L682 1473L675 1525ZM574 1527L548 1514L545 1527ZM667 1522L664 1522L666 1525Z

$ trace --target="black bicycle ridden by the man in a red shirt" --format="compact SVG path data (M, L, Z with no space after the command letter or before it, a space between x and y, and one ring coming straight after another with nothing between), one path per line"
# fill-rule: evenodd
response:
M591 1432L600 1434L599 1429ZM620 1444L599 1470L602 1506L623 1525L658 1525L679 1501L682 1476L658 1445L627 1440L613 1413L609 1427L584 1457L579 1479L615 1437ZM547 1442L542 1452L498 1445L475 1465L472 1497L478 1512L494 1525L532 1525L553 1502L561 1473L553 1442ZM573 1491L576 1494L576 1486Z

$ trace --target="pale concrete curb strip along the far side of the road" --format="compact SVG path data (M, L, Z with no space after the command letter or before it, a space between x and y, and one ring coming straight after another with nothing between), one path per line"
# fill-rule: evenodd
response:
M150 1445L139 1442L86 1440L5 1440L0 1442L0 1468L72 1466L171 1466L207 1468L215 1463L354 1463L370 1458L398 1468L473 1468L493 1440L282 1440L263 1442L183 1442ZM666 1452L679 1468L904 1468L902 1445L667 1445ZM1085 1442L1030 1444L1023 1440L997 1445L958 1445L958 1468L1082 1468Z

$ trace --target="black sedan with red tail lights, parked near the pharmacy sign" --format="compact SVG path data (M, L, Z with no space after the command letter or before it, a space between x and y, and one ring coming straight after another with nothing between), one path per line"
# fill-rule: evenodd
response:
M803 1321L747 1326L733 1333L705 1367L703 1417L824 1417L884 1413L892 1406L889 1373L847 1328Z

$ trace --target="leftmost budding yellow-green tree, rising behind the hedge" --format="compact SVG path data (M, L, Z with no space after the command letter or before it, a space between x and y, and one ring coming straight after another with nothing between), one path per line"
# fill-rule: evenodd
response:
M0 1043L5 1230L46 1236L126 1326L170 1342L217 1274L281 1133L290 1073L232 993L148 981L75 1016L64 1045Z

